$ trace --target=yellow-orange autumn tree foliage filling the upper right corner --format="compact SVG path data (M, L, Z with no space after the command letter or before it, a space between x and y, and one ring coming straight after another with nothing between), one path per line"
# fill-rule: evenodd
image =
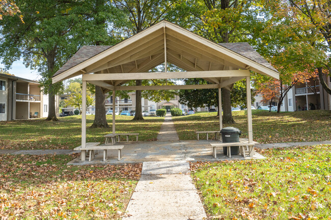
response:
M310 49L311 52L306 53L300 64L314 64L313 69L317 68L323 88L331 94L323 78L323 69L331 76L331 57L328 55L331 52L331 1L265 0L264 5L273 15L270 27L286 28L289 30L286 37L292 36L292 42Z

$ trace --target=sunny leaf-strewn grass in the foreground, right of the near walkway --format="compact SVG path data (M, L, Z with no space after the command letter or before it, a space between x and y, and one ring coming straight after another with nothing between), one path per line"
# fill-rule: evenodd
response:
M331 145L260 150L265 160L191 163L217 219L331 219Z

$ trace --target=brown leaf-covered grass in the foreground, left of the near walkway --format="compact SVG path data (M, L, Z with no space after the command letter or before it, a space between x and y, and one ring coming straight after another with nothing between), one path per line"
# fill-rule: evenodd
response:
M68 155L0 155L0 219L119 219L141 164L65 164Z

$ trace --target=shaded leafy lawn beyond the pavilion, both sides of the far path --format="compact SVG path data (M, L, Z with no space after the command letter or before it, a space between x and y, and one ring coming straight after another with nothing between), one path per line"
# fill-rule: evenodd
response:
M181 140L195 140L196 131L219 130L216 112L196 113L173 117ZM107 115L108 129L87 129L87 142L104 142L105 134L112 133L112 115ZM224 127L239 128L247 137L245 111L233 112L235 124ZM140 133L139 141L155 141L164 117L145 117L131 121L133 116L116 115L116 133ZM0 122L0 149L73 149L81 141L81 116L59 118L50 122L44 118ZM94 115L87 116L87 127ZM253 111L253 137L260 143L304 142L331 140L331 111L268 112ZM135 139L135 137L131 137ZM200 138L205 138L200 135Z

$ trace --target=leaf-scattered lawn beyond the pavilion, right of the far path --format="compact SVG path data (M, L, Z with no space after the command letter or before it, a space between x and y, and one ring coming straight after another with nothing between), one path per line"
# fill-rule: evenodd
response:
M247 137L247 115L245 111L235 111L236 124L223 127L236 127ZM216 112L196 113L173 117L179 139L194 140L196 131L219 130ZM331 111L314 110L299 112L268 112L253 110L253 138L260 143L304 142L331 140ZM205 138L200 135L200 138Z

